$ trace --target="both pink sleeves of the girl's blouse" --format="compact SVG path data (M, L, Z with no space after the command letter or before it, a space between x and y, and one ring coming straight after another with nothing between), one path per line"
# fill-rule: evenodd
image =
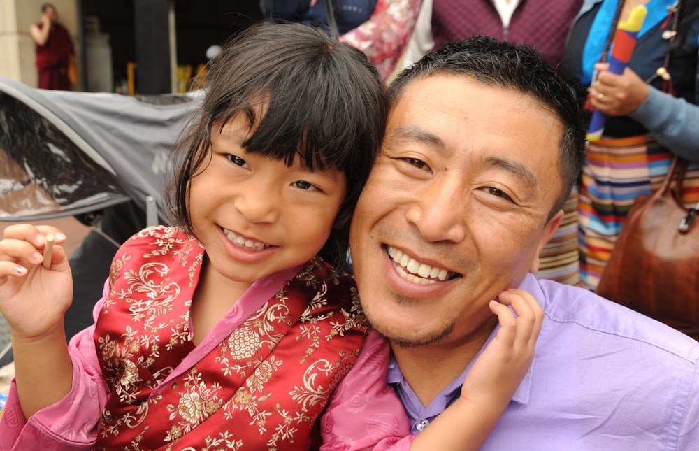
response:
M254 289L252 287L251 289ZM108 294L108 284L105 285ZM254 297L254 296L252 296ZM96 303L99 313L103 299ZM240 310L238 310L240 311ZM229 321L234 320L228 318ZM90 450L107 387L96 357L94 326L69 343L73 387L61 401L24 418L15 382L0 417L0 450ZM322 450L408 450L414 436L401 401L386 385L389 345L370 331L359 359L340 383L321 419Z

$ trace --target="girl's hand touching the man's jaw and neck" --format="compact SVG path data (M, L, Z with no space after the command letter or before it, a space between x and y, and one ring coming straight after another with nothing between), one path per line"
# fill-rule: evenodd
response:
M466 376L461 398L502 412L534 359L544 312L522 289L505 290L489 307L498 316L500 329Z

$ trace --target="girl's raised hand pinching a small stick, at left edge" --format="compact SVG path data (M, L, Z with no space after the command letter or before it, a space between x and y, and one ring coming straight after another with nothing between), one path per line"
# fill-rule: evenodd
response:
M43 266L45 236L55 245L50 269ZM0 313L13 340L32 340L63 329L64 313L73 299L68 256L60 244L66 236L50 226L20 224L6 227L0 241Z

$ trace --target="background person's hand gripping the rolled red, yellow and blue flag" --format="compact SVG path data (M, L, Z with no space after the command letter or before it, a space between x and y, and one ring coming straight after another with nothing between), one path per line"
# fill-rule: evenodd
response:
M600 113L626 116L648 98L648 85L631 69L617 75L609 71L609 63L595 64L597 80L591 85L590 101Z

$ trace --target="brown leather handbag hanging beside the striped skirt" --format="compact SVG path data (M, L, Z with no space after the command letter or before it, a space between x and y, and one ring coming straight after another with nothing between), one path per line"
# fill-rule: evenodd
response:
M687 162L629 210L596 293L699 339L699 203L682 206Z

